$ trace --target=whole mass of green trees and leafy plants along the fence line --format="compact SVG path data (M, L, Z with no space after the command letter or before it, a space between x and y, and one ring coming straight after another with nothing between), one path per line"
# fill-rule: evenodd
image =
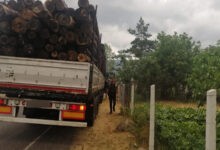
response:
M206 92L218 90L220 97L220 41L215 45L201 46L187 33L160 32L153 39L149 24L142 18L135 29L131 47L111 55L109 71L116 73L121 83L136 83L136 99L146 101L150 85L156 85L156 99L193 103L191 108L156 107L157 149L205 149ZM111 48L107 47L109 52ZM117 63L116 63L117 62ZM219 99L218 99L219 100ZM138 145L147 145L149 106L136 103L130 129ZM195 107L196 104L196 107ZM188 106L188 105L187 105ZM146 133L146 134L145 134ZM220 149L220 113L217 116L217 146Z

